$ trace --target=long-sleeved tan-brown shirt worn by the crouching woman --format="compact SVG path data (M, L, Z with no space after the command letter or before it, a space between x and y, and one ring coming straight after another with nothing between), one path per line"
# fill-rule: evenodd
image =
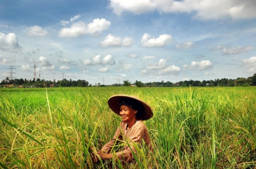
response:
M152 150L148 129L142 121L136 121L136 123L129 129L126 122L121 122L120 126L115 132L113 139L111 139L107 144L105 144L105 146L102 147L102 151L105 153L110 153L112 146L115 143L118 143L119 140L122 140L124 141L124 144L128 142L132 151L136 153L136 150L132 145L134 143L142 143L142 139L144 140L148 148ZM117 157L120 160L132 162L134 160L134 156L131 152L130 147L128 145L125 145L123 151L116 153Z

